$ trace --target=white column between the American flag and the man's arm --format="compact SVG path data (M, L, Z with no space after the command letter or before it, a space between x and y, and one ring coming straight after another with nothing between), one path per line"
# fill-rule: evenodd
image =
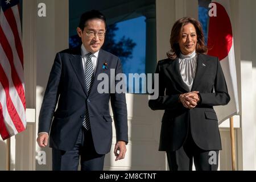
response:
M36 16L36 126L35 138L38 132L38 116L46 89L49 72L56 52L68 48L68 0L38 0L46 4L46 17ZM51 170L51 148L39 148L35 145L36 157L40 150L46 152L46 164L36 161L36 170Z

